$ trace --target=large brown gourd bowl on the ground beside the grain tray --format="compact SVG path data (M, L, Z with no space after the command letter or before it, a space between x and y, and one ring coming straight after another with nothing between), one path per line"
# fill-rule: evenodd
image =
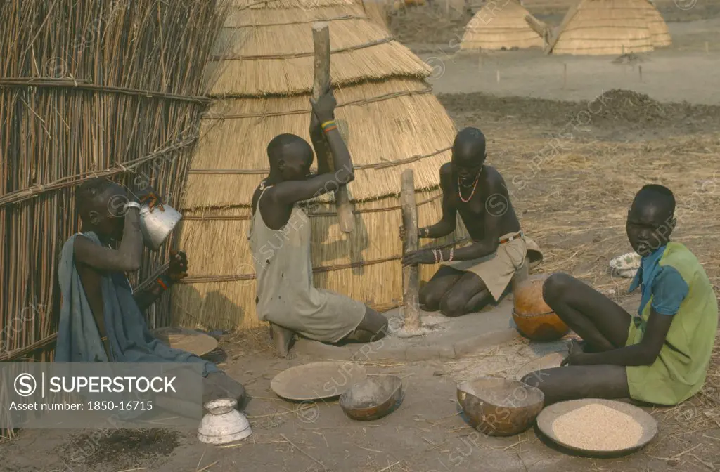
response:
M485 377L459 384L457 401L476 430L488 436L513 436L535 422L545 395L521 381Z

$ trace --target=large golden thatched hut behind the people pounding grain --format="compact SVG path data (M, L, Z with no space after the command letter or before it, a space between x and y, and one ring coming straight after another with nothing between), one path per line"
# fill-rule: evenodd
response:
M340 231L330 195L310 214L315 284L376 309L397 305L400 174L413 168L415 186L423 189L420 224L438 221L438 172L450 159L455 135L425 81L431 68L368 19L357 0L251 1L233 1L217 42L217 54L225 57L208 65L220 78L184 199L181 246L192 259L192 274L174 294L175 322L259 324L247 240L251 198L269 170L266 147L274 136L289 132L310 141L312 22L320 20L330 24L336 117L356 180L348 186L352 233ZM421 275L427 280L433 270L425 266Z

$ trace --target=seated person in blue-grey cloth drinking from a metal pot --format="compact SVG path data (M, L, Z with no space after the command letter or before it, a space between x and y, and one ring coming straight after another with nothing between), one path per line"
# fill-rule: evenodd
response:
M157 204L150 189L142 195L151 205ZM171 349L148 331L143 310L184 275L184 253L174 255L156 284L133 294L125 273L138 271L143 255L138 201L130 202L119 184L93 178L78 187L76 207L83 227L65 243L60 255L62 301L55 360L200 363L205 401L229 396L242 404L243 386L215 364Z

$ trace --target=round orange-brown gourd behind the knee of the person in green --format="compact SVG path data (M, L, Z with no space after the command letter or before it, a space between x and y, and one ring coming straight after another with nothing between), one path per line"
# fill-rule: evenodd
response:
M521 335L533 341L559 340L570 332L542 296L543 283L549 276L530 276L513 291L513 321Z

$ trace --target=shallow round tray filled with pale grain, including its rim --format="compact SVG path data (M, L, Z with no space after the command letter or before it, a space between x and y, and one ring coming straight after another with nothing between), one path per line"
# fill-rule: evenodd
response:
M657 421L622 401L582 399L546 407L539 430L562 447L595 457L619 456L644 448L657 435Z

